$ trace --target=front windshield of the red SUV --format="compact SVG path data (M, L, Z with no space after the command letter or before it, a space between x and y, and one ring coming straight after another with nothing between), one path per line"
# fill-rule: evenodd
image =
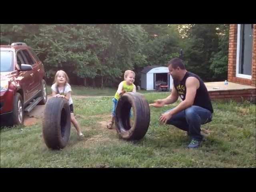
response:
M12 52L1 51L0 56L0 70L1 72L13 71Z

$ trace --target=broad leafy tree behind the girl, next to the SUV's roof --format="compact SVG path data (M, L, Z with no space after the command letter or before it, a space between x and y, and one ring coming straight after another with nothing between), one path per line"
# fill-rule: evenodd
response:
M63 68L84 79L96 77L97 54L106 44L94 25L81 24L40 25L39 33L25 41L34 47L49 76Z

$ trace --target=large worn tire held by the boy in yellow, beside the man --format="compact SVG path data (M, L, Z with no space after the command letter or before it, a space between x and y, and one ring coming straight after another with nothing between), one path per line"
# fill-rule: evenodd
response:
M130 126L130 110L134 111L134 123ZM148 131L150 108L140 93L126 92L116 106L115 125L118 134L126 140L140 140Z

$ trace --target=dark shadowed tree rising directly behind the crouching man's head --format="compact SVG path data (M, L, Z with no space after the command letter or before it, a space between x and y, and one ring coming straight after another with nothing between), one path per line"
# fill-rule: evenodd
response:
M186 68L198 74L203 80L212 80L210 70L212 52L218 50L218 24L193 24L184 38L184 60Z

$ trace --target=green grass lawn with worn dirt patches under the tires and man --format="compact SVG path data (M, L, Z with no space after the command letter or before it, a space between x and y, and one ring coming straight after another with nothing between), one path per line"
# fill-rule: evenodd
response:
M116 90L76 89L74 95L113 96ZM113 91L113 92L112 92ZM149 102L168 93L144 93ZM116 130L106 128L110 119L110 97L73 98L74 112L85 137L77 138L71 128L68 145L59 151L49 150L42 138L42 123L33 126L2 128L0 132L0 167L86 168L86 167L256 167L254 104L213 102L214 118L202 126L210 134L202 147L186 149L185 132L160 125L162 112L176 106L150 107L151 120L146 136L137 142L120 139Z

